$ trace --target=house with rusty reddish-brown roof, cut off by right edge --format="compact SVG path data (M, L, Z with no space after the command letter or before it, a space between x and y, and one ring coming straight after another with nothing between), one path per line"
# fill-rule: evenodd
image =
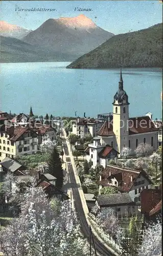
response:
M155 186L155 189L143 189L141 191L141 213L145 222L156 221L161 216L162 191Z

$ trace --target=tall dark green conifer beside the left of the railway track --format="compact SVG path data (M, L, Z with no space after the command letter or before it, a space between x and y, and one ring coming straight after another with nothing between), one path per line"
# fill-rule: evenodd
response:
M55 147L53 148L53 152L48 161L48 168L48 172L57 178L57 187L61 188L63 185L63 169L59 153Z

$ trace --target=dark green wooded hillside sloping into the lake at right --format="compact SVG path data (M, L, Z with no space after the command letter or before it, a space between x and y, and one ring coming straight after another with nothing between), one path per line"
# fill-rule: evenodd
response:
M119 34L84 54L67 68L162 67L162 23L148 29Z

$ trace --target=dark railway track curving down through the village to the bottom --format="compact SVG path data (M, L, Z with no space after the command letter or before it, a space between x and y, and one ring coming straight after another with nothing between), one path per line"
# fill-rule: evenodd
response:
M68 175L69 175L69 182L71 183L72 195L74 198L74 204L75 204L76 212L78 215L78 219L81 224L81 230L82 230L84 236L87 239L89 239L89 226L88 226L88 223L86 221L86 217L85 217L85 214L83 211L82 202L81 202L79 191L78 191L78 184L76 183L74 170L73 170L73 166L71 163L71 158L68 157L69 153L68 153L68 147L67 147L65 139L63 139L63 148L64 148L65 156L67 156L66 162L67 162L67 170L68 170ZM95 240L96 250L100 255L104 255L104 256L105 255L107 255L107 256L114 255L113 253L108 251L108 249L101 242L99 242L99 240L95 236L94 236L94 240Z

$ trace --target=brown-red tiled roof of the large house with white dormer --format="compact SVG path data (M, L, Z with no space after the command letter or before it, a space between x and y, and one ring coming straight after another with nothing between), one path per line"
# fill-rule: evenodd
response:
M120 191L129 192L135 180L142 172L139 172L138 170L130 170L130 169L125 169L118 166L110 165L103 170L101 181L98 182L99 185L110 186L110 184L108 184L109 177L111 178L111 176L109 176L109 173L111 173L111 176L114 176L115 179L117 179L117 181L120 182L118 186L118 189Z

